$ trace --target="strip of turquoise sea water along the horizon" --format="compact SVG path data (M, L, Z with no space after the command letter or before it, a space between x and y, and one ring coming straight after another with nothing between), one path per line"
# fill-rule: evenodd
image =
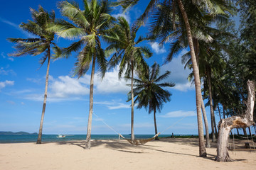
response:
M61 142L69 140L85 140L86 135L66 135L66 137L58 138L58 135L43 135L42 142ZM123 135L130 138L130 135ZM135 135L136 139L150 138L154 135ZM159 135L159 137L170 137L171 135ZM38 135L0 135L0 143L23 143L36 142ZM118 140L118 135L92 135L92 140ZM122 139L122 138L121 138Z

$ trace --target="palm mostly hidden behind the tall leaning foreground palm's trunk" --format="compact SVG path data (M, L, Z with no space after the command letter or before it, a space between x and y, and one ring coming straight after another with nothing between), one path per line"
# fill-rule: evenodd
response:
M222 8L225 8L225 4L219 5ZM188 8L189 7L189 8ZM181 50L186 49L188 47L188 40L186 35L186 27L183 24L183 17L181 16L181 13L177 13L176 19L175 19L175 25L178 27L171 26L173 25L172 21L173 12L179 11L178 8L174 8L174 4L171 3L162 3L158 5L158 8L154 11L154 14L152 15L152 18L154 18L151 21L151 26L153 27L151 29L151 33L158 34L160 33L161 36L159 36L161 43L162 42L168 42L173 39L176 39L171 42L171 48L168 57L166 57L166 62L170 62L174 55L178 55ZM214 11L212 13L202 13L199 8L197 8L197 4L193 4L192 1L186 1L186 13L188 13L188 19L191 24L191 29L193 32L193 45L194 45L194 51L196 55L196 61L197 64L199 63L199 55L203 57L203 54L205 52L201 52L201 43L210 44L213 42L214 34L220 34L219 30L216 30L215 28L210 27L210 23L213 21L218 21L221 23L227 22L227 14L223 13L223 11ZM164 16L170 16L169 19L164 18ZM201 42L201 43L199 43ZM216 44L216 42L215 42ZM185 59L184 59L185 58ZM191 62L191 52L187 52L185 55L183 55L183 60L188 60L188 64L192 64ZM192 66L192 65L191 65ZM201 70L201 66L198 65L201 72L204 72ZM192 69L192 67L190 67ZM206 125L206 144L207 147L210 147L210 142L208 140L208 122L207 117L205 114L205 110L203 109L203 98L201 98L201 106L203 111L203 118L205 120ZM211 107L213 108L213 107ZM213 127L213 119L214 119L214 113L213 109L211 109L211 120L212 120L212 127ZM214 130L214 128L212 128ZM213 136L213 141L215 141L215 136Z

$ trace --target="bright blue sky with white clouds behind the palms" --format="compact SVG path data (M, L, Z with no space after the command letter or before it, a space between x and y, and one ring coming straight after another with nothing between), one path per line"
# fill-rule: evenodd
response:
M81 3L81 1L78 1ZM46 79L46 65L39 64L40 56L9 57L14 52L13 44L6 38L28 38L18 25L31 20L29 8L38 9L41 4L47 11L55 10L56 17L60 13L53 0L3 1L0 10L0 131L38 132L43 106L43 93ZM122 14L119 8L114 8L113 15L124 15L132 23L146 4L139 4L128 13ZM145 34L147 27L139 30ZM67 47L69 40L58 38L60 47ZM159 47L157 42L146 42L154 56L146 60L149 65L154 62L164 63L169 51L169 44ZM183 50L184 53L186 50ZM75 54L68 60L56 60L50 63L50 78L46 115L43 124L44 134L86 134L89 112L90 70L84 77L71 77L74 68ZM165 103L156 120L159 132L169 126L181 122L166 130L164 134L198 134L196 119L196 99L194 87L186 79L189 70L184 70L180 56L169 64L161 66L161 72L171 71L169 81L176 83L171 91L171 102ZM92 134L114 134L101 120L122 134L130 133L130 103L127 103L129 82L117 78L117 68L110 70L101 81L95 77L94 113ZM96 73L97 74L97 73ZM210 120L209 108L206 108ZM216 115L218 123L218 116ZM210 125L210 121L209 125ZM210 127L209 127L210 128ZM154 134L153 114L148 114L144 108L134 110L134 133Z

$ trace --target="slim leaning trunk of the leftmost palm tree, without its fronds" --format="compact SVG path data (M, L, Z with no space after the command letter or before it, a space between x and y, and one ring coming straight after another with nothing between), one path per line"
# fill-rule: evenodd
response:
M43 98L43 111L41 115L41 122L38 132L38 140L36 144L41 144L42 142L42 132L43 132L43 118L46 112L46 98L47 98L47 91L48 91L48 77L49 77L49 68L50 68L50 47L48 47L48 64L47 64L47 71L46 71L46 87L45 87L45 94Z

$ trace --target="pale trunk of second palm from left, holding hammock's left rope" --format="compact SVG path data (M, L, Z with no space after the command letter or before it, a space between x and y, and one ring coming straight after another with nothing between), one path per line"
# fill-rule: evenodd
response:
M92 132L92 108L93 108L93 80L95 74L95 61L96 57L93 57L92 61L92 73L90 79L90 109L89 109L89 117L88 117L88 125L87 125L87 135L85 140L85 149L90 149L90 139Z

